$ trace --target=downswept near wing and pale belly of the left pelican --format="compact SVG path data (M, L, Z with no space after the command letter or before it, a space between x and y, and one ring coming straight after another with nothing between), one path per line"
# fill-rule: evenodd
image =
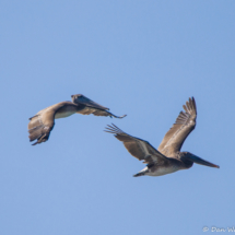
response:
M30 141L37 140L32 145L46 142L49 139L50 131L54 129L55 118L68 117L77 110L78 105L71 102L61 102L38 111L34 117L30 118L31 121L27 126Z

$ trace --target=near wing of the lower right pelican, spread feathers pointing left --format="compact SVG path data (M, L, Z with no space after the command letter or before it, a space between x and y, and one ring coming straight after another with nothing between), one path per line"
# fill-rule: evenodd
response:
M141 140L136 137L131 137L128 133L125 133L114 124L113 126L107 125L106 132L114 133L115 137L124 142L124 145L128 150L128 152L137 157L138 160L144 160L143 163L151 164L161 164L164 162L168 162L167 157L165 157L162 153L160 153L156 149L154 149L149 142L145 140Z

